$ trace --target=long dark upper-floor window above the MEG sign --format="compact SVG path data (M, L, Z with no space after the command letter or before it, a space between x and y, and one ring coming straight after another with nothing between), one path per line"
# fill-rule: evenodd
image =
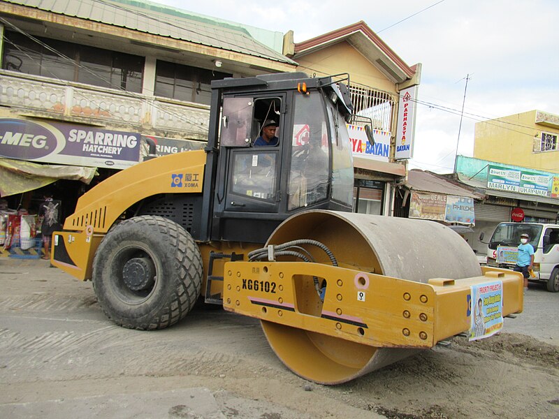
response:
M2 68L139 93L144 57L5 31Z

